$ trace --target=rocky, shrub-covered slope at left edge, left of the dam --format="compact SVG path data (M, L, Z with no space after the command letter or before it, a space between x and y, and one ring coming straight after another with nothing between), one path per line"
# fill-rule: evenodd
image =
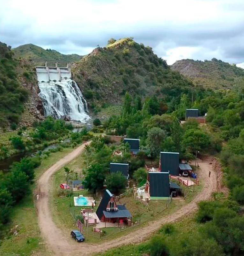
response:
M42 111L35 72L26 60L16 60L0 42L0 128L32 123ZM39 111L40 110L40 111Z

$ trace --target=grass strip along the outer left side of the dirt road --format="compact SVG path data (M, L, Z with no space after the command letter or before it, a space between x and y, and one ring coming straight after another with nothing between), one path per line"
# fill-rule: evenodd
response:
M48 158L43 159L41 165L35 170L36 180L51 165L72 150L73 148L64 148L63 151L51 153ZM32 190L34 188L35 184L32 186ZM32 193L14 206L11 223L6 225L5 230L6 237L1 241L0 246L1 256L52 255L41 238ZM13 234L15 230L18 232L17 235Z

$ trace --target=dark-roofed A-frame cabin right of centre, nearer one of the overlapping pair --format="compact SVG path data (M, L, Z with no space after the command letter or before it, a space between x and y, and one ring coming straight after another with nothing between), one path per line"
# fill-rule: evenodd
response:
M168 199L170 183L168 172L148 172L145 191L152 199Z

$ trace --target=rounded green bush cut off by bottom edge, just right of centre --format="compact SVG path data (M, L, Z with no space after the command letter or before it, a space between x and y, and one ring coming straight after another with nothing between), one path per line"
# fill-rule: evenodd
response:
M167 256L169 255L168 247L161 236L154 236L149 242L149 250L151 256Z

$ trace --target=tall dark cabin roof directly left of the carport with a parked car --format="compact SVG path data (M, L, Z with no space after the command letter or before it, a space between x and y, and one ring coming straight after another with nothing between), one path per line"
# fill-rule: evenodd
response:
M159 170L179 176L180 154L178 152L160 152Z

